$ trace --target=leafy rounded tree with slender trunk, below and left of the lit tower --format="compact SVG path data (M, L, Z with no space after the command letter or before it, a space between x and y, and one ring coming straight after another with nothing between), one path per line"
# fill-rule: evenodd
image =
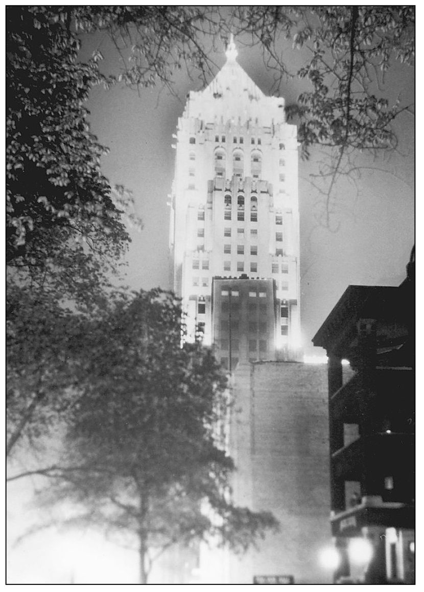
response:
M80 343L80 396L67 417L61 466L44 503L75 504L70 525L99 527L138 544L141 581L174 543L212 536L244 551L277 523L234 506L234 469L217 426L226 416L226 377L212 352L181 347L173 294L121 298Z

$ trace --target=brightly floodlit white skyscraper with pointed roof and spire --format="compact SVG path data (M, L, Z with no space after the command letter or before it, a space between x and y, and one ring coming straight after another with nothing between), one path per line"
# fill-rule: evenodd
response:
M236 57L231 39L225 65L190 92L179 118L170 228L189 339L198 327L230 367L231 339L241 347L241 357L232 348L236 361L288 359L300 349L297 130L284 99L264 95ZM218 278L226 279L219 298ZM267 289L256 285L264 279ZM245 322L231 332L238 311Z

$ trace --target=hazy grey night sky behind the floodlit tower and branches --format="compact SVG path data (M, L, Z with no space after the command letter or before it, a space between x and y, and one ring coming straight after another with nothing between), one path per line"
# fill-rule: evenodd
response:
M109 66L104 42L101 49ZM265 94L272 94L273 75L264 67L260 52L240 44L238 52L238 62L248 75ZM295 54L294 60L300 57ZM116 56L113 59L116 64ZM213 59L221 67L224 48ZM289 56L288 60L294 69L293 58ZM414 71L406 71L406 67L397 70L389 79L391 97L401 92L405 101L412 102ZM182 73L174 86L177 96L158 88L141 91L140 96L122 87L92 92L92 130L110 149L103 159L103 173L112 184L131 189L144 223L140 234L131 233L127 281L134 289L171 288L167 195L174 175L172 134L187 92L201 88L199 80L190 80ZM299 89L299 81L294 79L283 82L279 92L290 103L296 100ZM339 188L340 227L336 233L316 225L317 196L308 181L313 165L300 162L301 318L303 346L308 353L321 353L312 348L310 340L349 284L397 285L405 276L414 242L413 118L402 115L397 130L399 153L390 162L375 165L390 172L365 170L359 195L348 184ZM366 158L362 162L372 165Z

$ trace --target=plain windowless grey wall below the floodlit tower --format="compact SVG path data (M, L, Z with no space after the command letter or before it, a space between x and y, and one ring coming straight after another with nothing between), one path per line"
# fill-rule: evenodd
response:
M240 365L234 374L231 453L241 505L269 510L281 532L258 552L232 558L231 583L254 575L294 575L296 583L330 583L319 566L329 526L326 366L296 362Z

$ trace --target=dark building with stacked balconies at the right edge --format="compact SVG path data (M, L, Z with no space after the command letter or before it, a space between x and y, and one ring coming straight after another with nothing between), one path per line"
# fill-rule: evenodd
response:
M414 583L413 301L410 275L399 287L349 286L313 337L329 358L336 577ZM346 382L342 358L355 371Z

